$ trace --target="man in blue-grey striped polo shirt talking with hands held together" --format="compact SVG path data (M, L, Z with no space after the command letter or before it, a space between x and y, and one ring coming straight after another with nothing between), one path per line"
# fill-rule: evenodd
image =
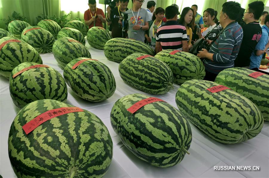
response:
M204 80L214 81L219 72L234 66L234 60L240 49L243 30L235 21L241 6L229 1L222 5L219 22L224 29L209 50L202 49L197 56L204 59L206 76Z

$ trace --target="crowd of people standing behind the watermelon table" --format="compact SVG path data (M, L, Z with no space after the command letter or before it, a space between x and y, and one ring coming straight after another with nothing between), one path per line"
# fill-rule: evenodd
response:
M129 0L114 1L116 6L109 6L105 17L96 0L88 0L85 24L91 28L106 23L113 38L145 42L156 53L175 49L197 55L206 69L205 80L214 81L219 72L231 67L258 71L269 47L269 15L262 1L248 4L247 9L235 1L225 2L219 19L212 8L198 14L195 4L180 13L176 4L163 9L148 1L144 9L144 0L130 0L132 8L128 9Z

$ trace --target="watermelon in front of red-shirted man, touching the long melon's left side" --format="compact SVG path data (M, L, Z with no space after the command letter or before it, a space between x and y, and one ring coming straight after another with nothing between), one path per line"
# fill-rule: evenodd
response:
M92 27L87 32L87 41L91 47L96 49L104 49L104 46L112 36L109 31L102 27Z

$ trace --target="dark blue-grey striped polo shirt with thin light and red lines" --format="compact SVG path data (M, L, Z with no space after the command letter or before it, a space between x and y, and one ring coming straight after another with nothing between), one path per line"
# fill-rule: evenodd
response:
M224 69L233 67L242 38L243 30L237 22L227 25L217 40L213 42L209 50L210 53L213 53L213 61L205 59L205 69L208 72L218 74Z

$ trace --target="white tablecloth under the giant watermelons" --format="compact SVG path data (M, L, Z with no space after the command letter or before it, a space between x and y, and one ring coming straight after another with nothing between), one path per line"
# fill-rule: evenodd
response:
M265 122L262 132L255 138L243 143L225 145L218 143L191 124L192 143L190 155L185 155L183 161L171 168L158 168L143 162L133 155L120 141L110 124L110 111L113 104L121 97L133 93L143 93L120 78L119 64L106 59L103 50L90 47L86 42L93 59L106 64L116 80L117 88L114 95L100 103L91 103L79 98L68 87L67 103L87 109L96 114L107 126L113 140L113 159L104 177L269 177L269 122ZM41 55L43 64L60 69L52 53ZM0 77L0 174L3 177L16 177L8 158L7 139L10 125L19 109L13 104L9 94L9 81ZM157 97L176 107L175 94L179 86L165 95ZM156 96L155 96L156 97ZM214 166L259 166L259 171L214 171Z

